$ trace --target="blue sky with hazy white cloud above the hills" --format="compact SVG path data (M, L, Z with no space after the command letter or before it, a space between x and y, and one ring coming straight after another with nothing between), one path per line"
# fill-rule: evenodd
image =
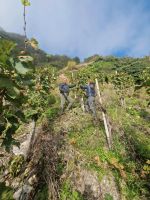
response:
M0 26L23 34L21 0L0 0ZM150 54L149 0L31 0L27 34L50 54Z

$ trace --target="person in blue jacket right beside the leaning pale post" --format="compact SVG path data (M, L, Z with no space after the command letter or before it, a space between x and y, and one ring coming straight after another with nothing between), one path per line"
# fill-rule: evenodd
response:
M85 102L85 109L87 112L92 111L93 117L97 119L96 115L96 108L95 108L95 83L93 81L89 81L89 83L85 86L80 86L81 89L85 90L86 92L86 102Z

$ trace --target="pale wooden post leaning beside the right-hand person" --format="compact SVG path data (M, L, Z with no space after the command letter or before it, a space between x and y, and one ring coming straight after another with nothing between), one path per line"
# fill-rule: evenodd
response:
M102 98L101 98L101 94L100 94L100 89L99 89L99 84L98 84L97 78L95 79L95 82L96 82L96 90L97 90L98 100L99 100L100 105L102 105ZM103 116L103 122L104 122L105 133L106 133L107 142L108 142L108 147L109 147L109 149L111 149L111 147L112 147L112 145L111 145L111 133L110 133L109 125L108 125L108 122L107 122L107 116L106 116L106 113L104 111L102 111L102 116Z

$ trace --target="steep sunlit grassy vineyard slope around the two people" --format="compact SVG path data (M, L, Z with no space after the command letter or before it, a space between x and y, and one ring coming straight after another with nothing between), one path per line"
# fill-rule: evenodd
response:
M4 138L10 152L0 149L0 199L149 199L149 70L148 57L112 56L91 57L61 70L49 63L37 68L34 85L23 90L23 119L16 122L17 113L10 114L10 108L3 113L9 122L4 130L1 121L3 136L10 137L10 123L19 126L12 134L15 141ZM73 108L60 115L62 73L76 87L71 90ZM80 85L89 79L98 80L102 98L100 105L96 96L96 123L81 105L85 97ZM102 112L109 122L111 148ZM20 149L14 145L18 142Z

